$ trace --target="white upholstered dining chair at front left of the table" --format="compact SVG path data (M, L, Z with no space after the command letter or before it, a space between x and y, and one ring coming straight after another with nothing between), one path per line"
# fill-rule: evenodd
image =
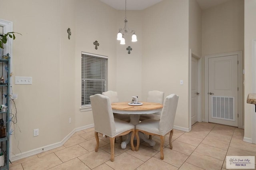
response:
M96 94L90 96L90 101L92 105L92 115L94 120L94 135L96 139L95 152L98 152L99 148L99 137L98 133L106 134L110 139L111 148L111 158L114 161L114 140L116 136L126 135L132 132L131 135L131 146L132 151L134 151L133 139L134 139L134 125L121 121L119 119L114 119L114 115L111 108L111 103L108 97Z

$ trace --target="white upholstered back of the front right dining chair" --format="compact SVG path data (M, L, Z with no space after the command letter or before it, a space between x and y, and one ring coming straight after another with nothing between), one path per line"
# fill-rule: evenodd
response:
M171 94L167 96L164 101L164 107L162 109L159 123L159 132L163 135L173 128L178 99L178 95Z

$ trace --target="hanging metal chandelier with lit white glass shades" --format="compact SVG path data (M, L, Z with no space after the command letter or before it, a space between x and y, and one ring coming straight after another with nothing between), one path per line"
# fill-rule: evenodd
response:
M127 20L126 20L126 0L125 0L125 18L124 18L124 28L120 28L119 32L117 34L117 40L120 40L120 44L125 44L125 40L124 40L124 34L132 34L132 42L136 42L137 41L137 36L135 34L135 31L132 30L130 31L128 26L127 26Z

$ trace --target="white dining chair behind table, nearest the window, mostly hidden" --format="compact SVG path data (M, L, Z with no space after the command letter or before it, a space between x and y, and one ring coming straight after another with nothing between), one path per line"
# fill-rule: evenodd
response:
M102 95L107 96L110 100L110 103L118 103L118 93L116 91L106 91L103 92ZM116 114L114 113L114 118L120 119L122 121L130 122L130 115L126 114Z

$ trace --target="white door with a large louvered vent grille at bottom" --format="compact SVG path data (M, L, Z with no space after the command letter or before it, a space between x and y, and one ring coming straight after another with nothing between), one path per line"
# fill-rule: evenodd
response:
M208 58L209 122L238 127L238 56Z

